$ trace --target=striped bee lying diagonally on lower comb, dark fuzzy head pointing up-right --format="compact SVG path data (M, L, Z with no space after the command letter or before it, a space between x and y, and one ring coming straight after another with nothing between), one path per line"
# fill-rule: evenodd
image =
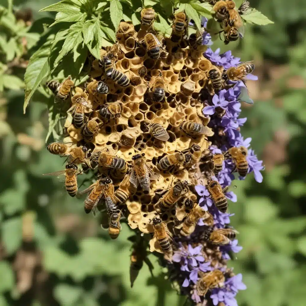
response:
M156 203L156 211L162 212L170 209L178 200L188 192L187 181L177 181L173 187Z

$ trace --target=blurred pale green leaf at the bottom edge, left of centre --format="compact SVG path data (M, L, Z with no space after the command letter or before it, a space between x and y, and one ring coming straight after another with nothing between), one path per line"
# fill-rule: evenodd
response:
M81 297L82 289L80 287L67 284L59 284L54 289L54 297L61 305L69 306L75 304Z

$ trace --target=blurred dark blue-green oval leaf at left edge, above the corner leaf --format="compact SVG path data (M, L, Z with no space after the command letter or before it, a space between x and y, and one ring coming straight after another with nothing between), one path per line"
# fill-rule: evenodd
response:
M21 217L11 218L2 222L2 241L6 252L12 255L21 246L22 241L22 219Z

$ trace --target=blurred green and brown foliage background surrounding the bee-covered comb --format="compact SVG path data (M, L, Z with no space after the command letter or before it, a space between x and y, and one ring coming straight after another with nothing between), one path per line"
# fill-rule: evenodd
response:
M38 13L53 0L14 1L16 20L0 7L0 306L183 305L157 259L129 283L132 243L126 224L110 241L82 200L63 183L41 174L62 169L46 150L48 116L39 94L23 114L27 50L43 31ZM242 1L236 1L239 6ZM305 305L306 285L306 10L303 0L251 0L274 24L246 27L242 42L212 48L254 60L248 88L255 104L243 105L242 128L263 159L262 184L237 181L232 225L243 250L229 261L248 289L240 306ZM0 0L8 7L11 1ZM26 28L25 25L32 25ZM51 139L49 140L49 142Z

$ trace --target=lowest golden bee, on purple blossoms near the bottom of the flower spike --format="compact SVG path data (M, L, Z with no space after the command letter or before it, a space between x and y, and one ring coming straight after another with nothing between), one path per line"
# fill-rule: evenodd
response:
M222 271L215 269L204 273L203 277L200 278L196 283L196 290L199 296L205 296L209 289L222 287L225 282L225 277Z

